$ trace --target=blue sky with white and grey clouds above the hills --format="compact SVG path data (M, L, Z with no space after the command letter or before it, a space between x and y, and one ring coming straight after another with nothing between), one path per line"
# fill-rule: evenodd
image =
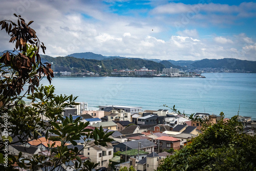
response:
M16 21L13 13L34 21L53 57L256 60L253 1L0 0L0 20ZM1 52L14 48L4 30L0 37Z

